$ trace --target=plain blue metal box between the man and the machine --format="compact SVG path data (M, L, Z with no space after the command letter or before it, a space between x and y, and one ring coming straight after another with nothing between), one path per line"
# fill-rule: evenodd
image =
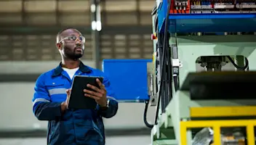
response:
M119 101L143 102L148 100L147 63L151 59L104 59L103 72Z

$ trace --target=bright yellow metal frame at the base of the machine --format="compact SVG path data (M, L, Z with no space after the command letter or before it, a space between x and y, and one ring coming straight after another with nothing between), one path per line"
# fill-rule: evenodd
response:
M241 117L255 116L256 107L191 107L191 117ZM255 145L256 120L190 120L180 121L180 141L188 144L187 130L192 128L212 128L214 131L214 145L221 145L220 128L246 127L247 144Z

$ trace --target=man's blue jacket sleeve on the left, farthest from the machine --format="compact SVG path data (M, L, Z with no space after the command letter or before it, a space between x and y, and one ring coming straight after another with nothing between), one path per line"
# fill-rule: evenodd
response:
M44 80L44 74L36 80L32 99L33 113L38 120L55 120L61 116L61 103L51 102Z

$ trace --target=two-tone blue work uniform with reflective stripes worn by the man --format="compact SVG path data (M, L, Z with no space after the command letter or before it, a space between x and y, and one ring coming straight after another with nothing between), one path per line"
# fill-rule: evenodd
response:
M103 117L116 115L118 102L104 72L87 67L82 62L75 75L103 77L109 99L108 109L67 109L61 112L60 104L65 101L65 90L71 88L72 80L61 65L42 73L36 80L33 95L33 113L38 120L48 120L47 144L49 145L104 145L105 130Z

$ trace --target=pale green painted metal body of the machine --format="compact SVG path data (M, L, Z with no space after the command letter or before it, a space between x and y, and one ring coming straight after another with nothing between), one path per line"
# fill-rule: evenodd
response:
M153 15L153 24L155 15ZM155 27L153 25L153 32ZM157 39L153 40L153 52L156 52ZM175 33L169 39L170 46L177 46L179 79L180 85L185 81L189 72L198 72L199 64L196 60L204 56L233 56L236 58L236 64L244 65L244 57L249 61L249 70L256 70L256 35L191 35L179 36ZM239 57L236 56L243 56ZM156 56L154 56L156 57ZM153 63L156 59L153 59ZM174 62L176 61L176 62ZM173 60L177 63L177 60ZM148 70L155 76L152 70L156 70L155 65L148 65ZM235 70L235 67L234 67ZM155 83L154 86L157 84ZM156 97L155 95L152 97ZM156 104L151 104L155 106ZM160 104L161 105L161 104ZM191 117L190 107L239 107L239 106L255 106L255 100L215 100L215 101L193 101L190 99L189 91L176 91L173 98L166 107L166 112L159 111L159 119L157 125L151 130L151 143L153 145L171 145L181 144L180 138L180 120L186 121ZM187 131L187 144L191 144L192 133Z

